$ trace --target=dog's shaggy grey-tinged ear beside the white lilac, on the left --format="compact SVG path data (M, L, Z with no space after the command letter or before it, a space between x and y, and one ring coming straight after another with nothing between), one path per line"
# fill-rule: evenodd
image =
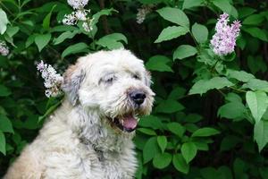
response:
M86 72L78 64L71 65L63 74L62 89L73 106L78 102L78 91L85 75Z

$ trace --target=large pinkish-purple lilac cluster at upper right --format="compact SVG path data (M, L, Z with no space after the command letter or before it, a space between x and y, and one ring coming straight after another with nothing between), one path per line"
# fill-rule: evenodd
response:
M216 23L216 33L210 41L216 55L230 54L236 46L241 24L239 21L233 21L231 25L228 25L229 21L229 14L222 13Z

